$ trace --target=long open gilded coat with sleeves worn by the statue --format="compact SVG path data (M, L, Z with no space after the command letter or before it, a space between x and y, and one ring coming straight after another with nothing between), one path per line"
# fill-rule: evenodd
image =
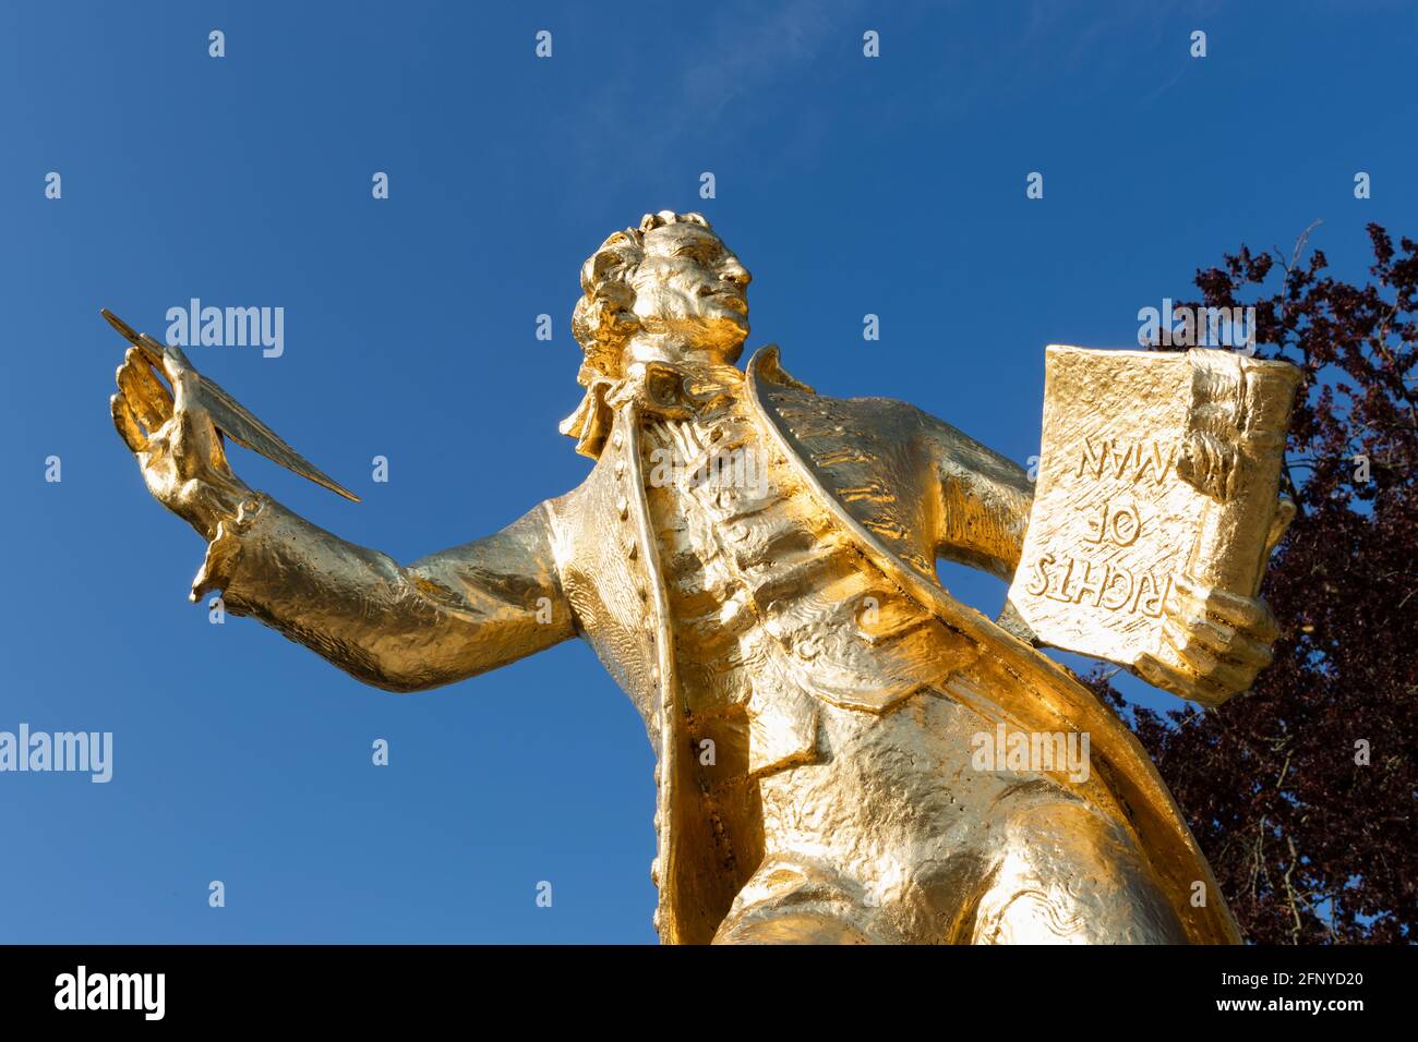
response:
M744 394L769 452L805 489L808 508L839 526L862 567L949 631L946 692L990 729L1003 722L1011 730L1089 734L1086 798L1132 828L1190 940L1236 943L1211 869L1132 732L1069 671L936 578L939 533L951 526L960 529L960 560L1008 574L1011 563L971 546L991 543L976 539L977 529L1028 516L1018 468L903 403L818 396L781 369L776 347L749 363ZM408 567L258 493L223 522L193 597L221 588L233 614L254 615L389 690L451 683L584 637L640 710L657 751L661 940L706 943L754 868L725 858L750 814L723 798L715 805L688 733L637 408L634 400L617 407L605 447L577 489L495 536ZM963 476L973 499L986 500L966 522L950 516L961 513L953 486ZM888 707L886 699L868 700L862 712ZM1191 900L1197 882L1202 907Z

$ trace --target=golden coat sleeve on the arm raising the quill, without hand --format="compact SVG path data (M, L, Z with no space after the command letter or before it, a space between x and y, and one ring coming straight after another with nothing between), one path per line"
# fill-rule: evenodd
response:
M400 566L255 493L217 527L191 598L214 590L233 615L394 692L454 683L576 634L545 503L496 534Z

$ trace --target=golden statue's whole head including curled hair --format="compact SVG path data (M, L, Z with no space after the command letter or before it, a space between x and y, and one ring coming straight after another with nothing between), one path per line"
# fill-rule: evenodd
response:
M590 370L583 377L618 379L627 350L736 362L749 336L750 278L700 214L645 214L581 265L571 333Z

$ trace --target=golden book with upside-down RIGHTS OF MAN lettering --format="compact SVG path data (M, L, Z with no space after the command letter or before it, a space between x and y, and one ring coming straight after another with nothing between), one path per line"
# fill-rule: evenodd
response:
M1254 597L1300 370L1224 349L1051 344L1044 438L1010 601L1044 644L1156 654L1178 574Z

